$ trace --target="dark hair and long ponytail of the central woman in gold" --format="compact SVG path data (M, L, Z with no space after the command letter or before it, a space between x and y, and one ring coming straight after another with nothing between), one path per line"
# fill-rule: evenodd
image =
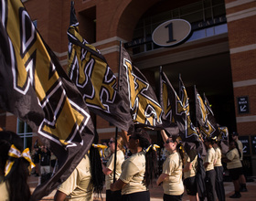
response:
M144 149L147 149L151 145L151 139L149 134L143 129L137 129L134 132L137 139L139 139L140 146ZM152 185L153 180L157 176L157 160L156 152L150 148L148 152L145 152L145 173L144 173L144 185Z

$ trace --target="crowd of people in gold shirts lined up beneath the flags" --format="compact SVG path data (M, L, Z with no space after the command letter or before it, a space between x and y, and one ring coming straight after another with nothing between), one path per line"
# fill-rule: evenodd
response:
M110 139L103 154L91 145L90 152L84 155L69 178L59 185L54 199L92 200L93 193L101 194L105 184L107 201L146 201L150 200L149 185L156 182L156 185L163 186L164 201L182 200L185 190L189 200L204 200L203 196L198 195L197 189L201 155L195 149L190 150L194 153L187 153L177 135L168 136L164 130L161 131L161 135L165 148L165 162L161 174L158 174L157 169L156 149L159 146L152 143L150 135L143 129L136 129L129 134L123 132L122 136ZM204 144L207 153L202 157L202 164L205 171L204 193L207 200L217 200L217 197L219 201L225 200L222 162L227 163L229 176L234 185L235 193L230 197L240 198L240 192L246 192L247 188L242 171L242 144L238 140L238 133L232 133L229 152L224 155L221 153L221 145L217 138L207 137ZM6 176L5 164L9 160L8 155L13 145L20 154L18 158L12 159L15 161L15 171ZM5 200L29 200L27 166L33 163L22 156L22 140L14 132L0 132L0 150L1 195ZM46 146L35 146L33 159L35 164L40 164L41 175L51 172L51 153ZM54 157L52 159L56 160ZM34 170L37 175L37 165Z

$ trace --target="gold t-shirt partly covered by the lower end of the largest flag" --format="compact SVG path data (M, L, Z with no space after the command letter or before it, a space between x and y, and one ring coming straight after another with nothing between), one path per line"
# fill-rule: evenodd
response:
M59 186L59 191L72 201L92 201L91 164L86 154L69 178Z

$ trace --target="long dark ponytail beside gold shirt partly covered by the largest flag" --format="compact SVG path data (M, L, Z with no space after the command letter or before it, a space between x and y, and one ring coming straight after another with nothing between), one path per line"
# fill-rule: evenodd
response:
M98 133L95 133L93 143L98 143ZM101 194L103 190L104 175L101 166L101 155L97 148L91 146L90 149L90 162L91 162L91 181L93 185L93 192Z

